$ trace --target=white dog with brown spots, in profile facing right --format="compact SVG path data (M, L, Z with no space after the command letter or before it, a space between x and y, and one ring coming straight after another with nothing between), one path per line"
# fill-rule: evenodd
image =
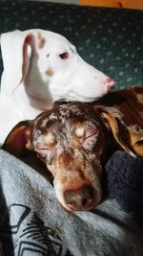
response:
M15 124L51 108L54 101L92 102L114 84L80 58L64 36L50 31L2 34L1 50L0 144Z

